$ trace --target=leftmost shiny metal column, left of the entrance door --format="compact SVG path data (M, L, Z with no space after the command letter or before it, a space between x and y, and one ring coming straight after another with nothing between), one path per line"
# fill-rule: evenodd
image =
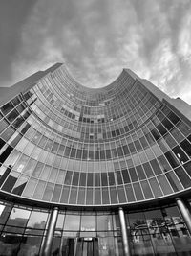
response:
M53 234L55 229L55 224L58 216L58 208L54 207L49 219L47 236L43 244L42 256L51 256L52 245L53 245Z

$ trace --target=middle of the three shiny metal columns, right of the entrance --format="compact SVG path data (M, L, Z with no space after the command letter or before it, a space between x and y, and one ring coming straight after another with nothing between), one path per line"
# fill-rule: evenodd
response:
M122 208L118 209L119 221L120 221L120 229L122 234L122 244L123 244L123 251L125 256L131 256L131 249L130 244L127 236L127 227L125 221L125 215Z

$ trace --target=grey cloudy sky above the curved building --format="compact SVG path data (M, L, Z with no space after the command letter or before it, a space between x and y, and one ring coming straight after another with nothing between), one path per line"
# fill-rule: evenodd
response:
M191 0L0 0L0 86L55 62L90 87L130 68L191 104Z

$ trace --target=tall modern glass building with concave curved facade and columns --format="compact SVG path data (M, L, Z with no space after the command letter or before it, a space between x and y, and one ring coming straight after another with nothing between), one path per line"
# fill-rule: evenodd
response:
M124 69L0 88L0 256L191 255L191 106Z

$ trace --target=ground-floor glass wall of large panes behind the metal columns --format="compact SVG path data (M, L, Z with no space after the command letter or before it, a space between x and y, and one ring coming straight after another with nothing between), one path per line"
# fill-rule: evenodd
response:
M47 210L2 201L0 255L39 255L49 217ZM191 238L176 206L125 218L132 255L190 255ZM59 211L52 255L122 256L117 213Z

